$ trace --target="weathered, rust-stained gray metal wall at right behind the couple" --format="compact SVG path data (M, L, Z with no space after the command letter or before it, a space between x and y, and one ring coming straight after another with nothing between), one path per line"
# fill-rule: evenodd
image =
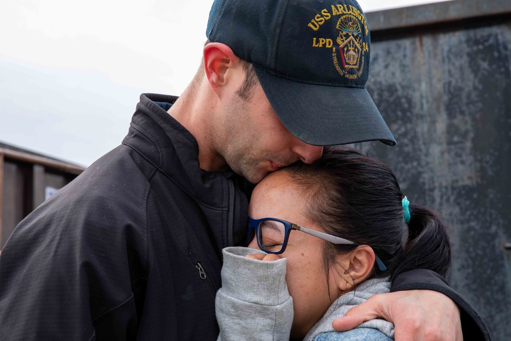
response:
M398 145L356 147L386 160L411 202L450 223L452 287L493 339L509 340L511 2L480 3L481 16L469 0L367 13L367 88ZM464 12L451 8L460 4Z

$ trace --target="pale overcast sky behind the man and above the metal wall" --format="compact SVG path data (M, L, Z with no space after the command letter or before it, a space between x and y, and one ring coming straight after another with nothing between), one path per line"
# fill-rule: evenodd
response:
M366 12L437 1L360 0ZM180 95L212 0L0 4L0 142L88 166L118 146L142 93Z

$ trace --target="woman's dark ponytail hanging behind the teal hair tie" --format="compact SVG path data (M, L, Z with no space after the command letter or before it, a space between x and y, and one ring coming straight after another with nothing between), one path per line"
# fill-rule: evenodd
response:
M435 212L410 204L408 239L391 280L412 269L429 269L446 276L451 266L451 245L447 226Z

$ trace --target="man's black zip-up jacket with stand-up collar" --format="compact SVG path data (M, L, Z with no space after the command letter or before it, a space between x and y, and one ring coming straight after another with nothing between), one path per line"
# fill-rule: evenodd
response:
M235 174L199 168L175 100L142 95L122 145L17 226L0 340L216 339L221 249L241 241L247 199ZM421 272L402 276L421 287Z

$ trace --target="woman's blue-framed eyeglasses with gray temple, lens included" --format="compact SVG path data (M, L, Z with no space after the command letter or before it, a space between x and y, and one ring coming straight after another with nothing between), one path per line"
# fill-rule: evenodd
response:
M248 245L255 235L259 248L264 252L275 255L282 254L286 249L291 230L305 232L334 244L359 245L358 243L350 240L310 230L303 226L298 226L292 222L277 218L248 218L248 237L245 245ZM385 271L387 267L378 256L375 255L375 258L378 268L381 271Z

